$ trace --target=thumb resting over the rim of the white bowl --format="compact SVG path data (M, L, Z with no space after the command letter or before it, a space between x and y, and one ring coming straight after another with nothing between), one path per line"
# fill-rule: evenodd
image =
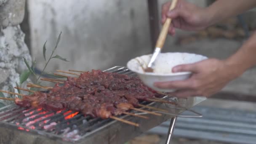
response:
M198 72L199 69L196 64L181 64L173 67L173 72Z

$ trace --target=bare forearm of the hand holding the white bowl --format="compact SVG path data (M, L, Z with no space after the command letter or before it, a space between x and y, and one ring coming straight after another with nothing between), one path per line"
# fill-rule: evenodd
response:
M256 65L256 32L226 61L235 77Z

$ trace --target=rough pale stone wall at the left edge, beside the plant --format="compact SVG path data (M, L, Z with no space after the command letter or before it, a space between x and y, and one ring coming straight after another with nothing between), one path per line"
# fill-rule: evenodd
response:
M27 69L23 57L31 63L19 24L24 17L25 0L0 0L0 89L19 83L19 74Z

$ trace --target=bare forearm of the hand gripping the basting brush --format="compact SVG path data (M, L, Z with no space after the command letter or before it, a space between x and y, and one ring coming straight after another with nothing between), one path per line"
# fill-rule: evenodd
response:
M256 0L216 0L206 8L209 25L256 7Z

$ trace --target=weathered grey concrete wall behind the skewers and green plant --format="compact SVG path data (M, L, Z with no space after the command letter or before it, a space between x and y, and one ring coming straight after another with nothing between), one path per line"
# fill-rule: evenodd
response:
M160 0L161 5L168 0ZM204 0L190 0L201 2ZM105 69L151 51L147 0L29 0L32 57L42 68L42 47L53 47L70 62L54 69ZM47 54L50 54L48 51Z

